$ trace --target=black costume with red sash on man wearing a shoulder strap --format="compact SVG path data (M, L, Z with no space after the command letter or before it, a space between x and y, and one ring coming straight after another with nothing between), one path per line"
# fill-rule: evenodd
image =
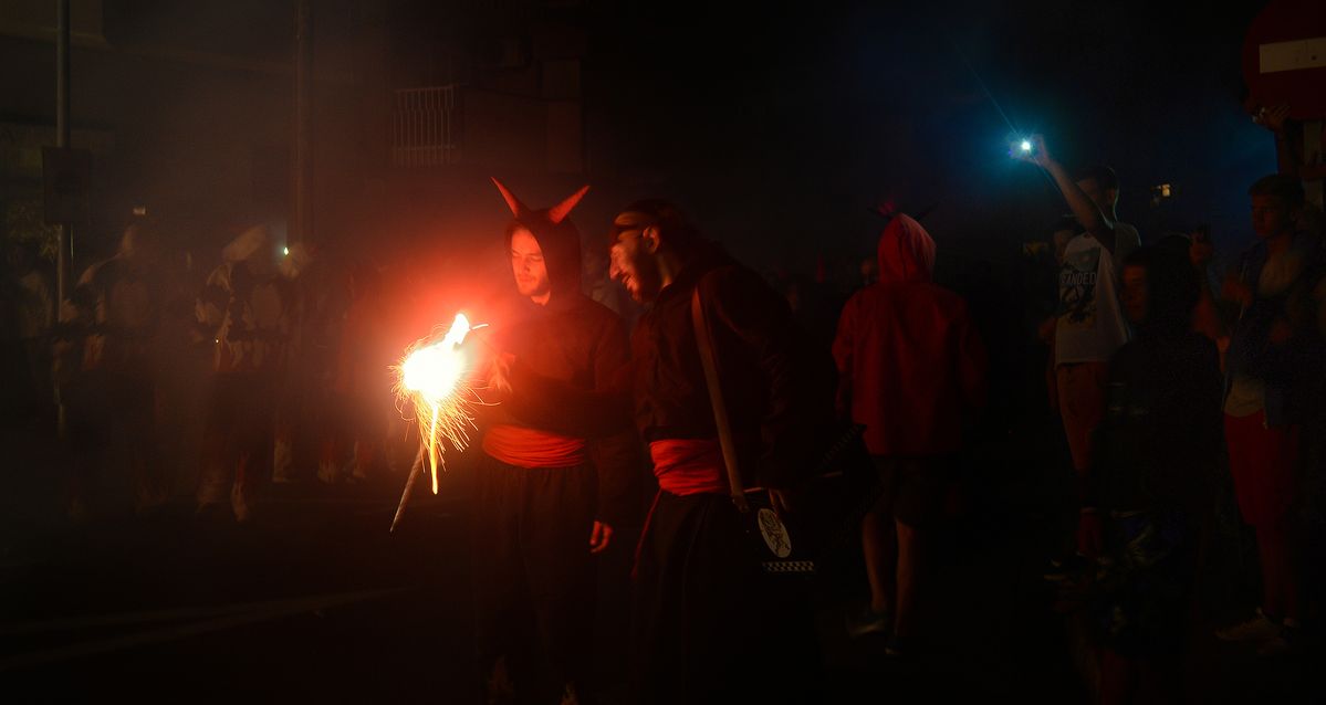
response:
M747 486L793 486L810 466L805 440L831 416L827 354L806 349L764 280L704 245L631 338L635 423L660 488L636 561L639 694L797 700L818 665L817 636L808 606L761 576L729 497L691 319L696 288Z

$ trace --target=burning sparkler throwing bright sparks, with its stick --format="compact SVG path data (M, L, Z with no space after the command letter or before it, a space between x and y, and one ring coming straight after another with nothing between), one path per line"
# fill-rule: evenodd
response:
M469 428L475 424L471 408L481 400L465 382L471 360L460 345L465 341L465 335L477 327L483 326L472 327L464 314L456 314L451 329L440 341L428 338L419 341L396 368L399 372L396 395L414 406L420 445L414 466L410 468L410 478L406 480L400 504L396 506L395 519L391 522L392 531L404 513L419 473L423 472L424 459L427 457L432 473L432 493L438 494L438 468L446 469L443 441L450 443L456 451L464 451L469 444Z

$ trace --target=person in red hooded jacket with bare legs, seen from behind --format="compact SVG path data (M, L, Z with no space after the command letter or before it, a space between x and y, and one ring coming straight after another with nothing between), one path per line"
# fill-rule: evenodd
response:
M984 403L985 350L953 292L932 281L935 241L912 217L879 237L879 281L838 321L839 413L866 427L884 493L862 522L870 607L853 635L891 632L890 653L916 636L926 527L939 513L944 460Z

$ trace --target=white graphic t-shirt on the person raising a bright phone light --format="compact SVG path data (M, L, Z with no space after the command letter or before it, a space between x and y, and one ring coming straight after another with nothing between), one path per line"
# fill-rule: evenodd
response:
M1054 327L1054 363L1107 362L1128 342L1119 305L1123 260L1142 244L1138 229L1114 224L1114 254L1090 235L1069 240L1059 265L1059 317Z

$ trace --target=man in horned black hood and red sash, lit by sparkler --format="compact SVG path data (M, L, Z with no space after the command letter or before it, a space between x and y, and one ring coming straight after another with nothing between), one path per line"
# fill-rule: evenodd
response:
M579 232L568 215L581 188L533 211L493 179L514 219L507 252L520 294L492 334L507 394L481 409L475 576L479 656L488 702L583 702L594 632L595 558L635 508L629 428L587 439L564 402L520 383L610 387L629 360L617 314L581 292ZM514 391L512 391L514 390ZM529 635L529 628L533 635ZM530 639L532 637L532 639ZM521 668L533 641L533 668Z

